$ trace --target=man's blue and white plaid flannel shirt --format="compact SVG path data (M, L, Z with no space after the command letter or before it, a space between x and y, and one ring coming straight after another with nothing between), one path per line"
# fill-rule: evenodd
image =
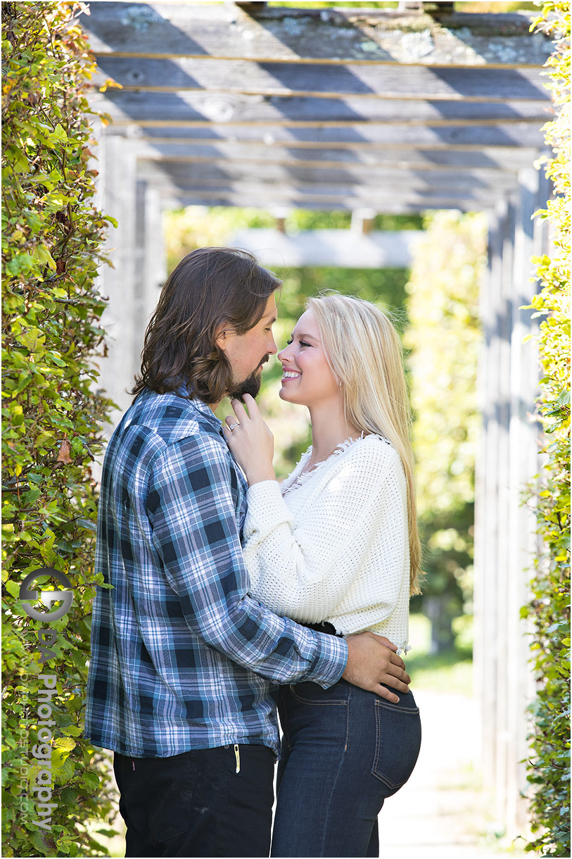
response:
M143 392L100 490L85 735L140 758L251 743L278 753L277 684L327 688L343 639L248 595L246 483L200 400Z

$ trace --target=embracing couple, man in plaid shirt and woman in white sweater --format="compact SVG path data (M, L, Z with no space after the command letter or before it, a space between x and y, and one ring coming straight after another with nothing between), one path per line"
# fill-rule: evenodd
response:
M114 752L126 856L378 856L417 760L399 338L358 298L307 302L278 359L312 447L279 485L254 397L280 285L246 252L186 256L106 450L85 733Z

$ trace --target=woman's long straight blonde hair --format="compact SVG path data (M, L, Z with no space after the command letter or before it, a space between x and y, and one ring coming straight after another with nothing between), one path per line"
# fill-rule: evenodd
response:
M344 395L346 420L360 432L385 436L401 458L407 482L410 593L419 594L423 573L411 410L399 335L380 308L361 298L325 293L308 299L306 308L318 320L326 359Z

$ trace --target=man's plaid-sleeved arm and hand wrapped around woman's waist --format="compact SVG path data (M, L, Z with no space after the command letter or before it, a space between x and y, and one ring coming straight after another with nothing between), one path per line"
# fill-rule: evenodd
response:
M344 674L385 697L394 698L385 687L374 688L389 682L383 677L407 691L398 679L403 663L379 637L366 634L372 640L356 644L314 633L247 595L230 461L216 439L189 437L157 457L147 509L167 581L189 628L205 643L277 683L313 680L328 687Z

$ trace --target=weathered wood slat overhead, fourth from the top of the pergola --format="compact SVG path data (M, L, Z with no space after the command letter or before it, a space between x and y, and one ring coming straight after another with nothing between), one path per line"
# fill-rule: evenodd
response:
M201 141L216 143L264 143L283 145L294 143L298 147L321 146L349 147L395 147L415 149L418 146L430 149L451 147L480 150L485 146L533 147L544 146L544 136L538 122L493 123L490 125L395 125L380 123L346 123L345 125L235 125L216 123L187 126L161 125L154 127L143 123L135 125L113 125L108 129L113 134L125 134L144 140L169 143L177 141Z

